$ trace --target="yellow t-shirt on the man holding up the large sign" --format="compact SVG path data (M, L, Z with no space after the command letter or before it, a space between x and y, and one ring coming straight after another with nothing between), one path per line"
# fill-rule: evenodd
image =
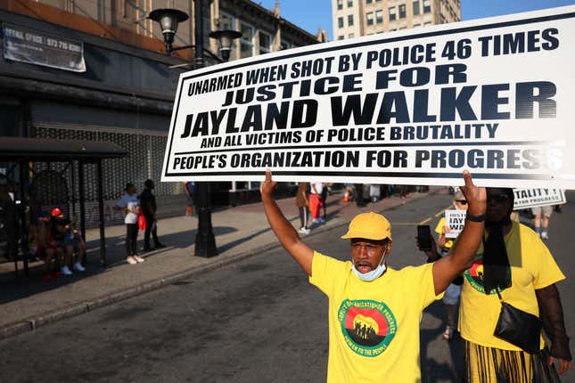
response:
M436 298L433 264L361 281L317 252L309 282L329 298L328 383L419 382L419 323Z

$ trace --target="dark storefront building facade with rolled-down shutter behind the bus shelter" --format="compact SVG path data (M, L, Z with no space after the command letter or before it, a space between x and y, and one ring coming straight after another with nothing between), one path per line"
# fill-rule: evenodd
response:
M242 31L231 60L320 41L284 20L279 5L267 10L250 0L196 1L202 2L209 53L203 65L219 61L211 30ZM109 222L121 220L113 205L127 182L141 191L145 179L160 180L177 78L196 65L191 49L167 54L160 26L146 19L166 5L158 0L0 0L0 137L110 141L127 149L127 159L104 161ZM170 0L168 6L190 15L178 26L174 46L194 45L193 0ZM65 164L61 170L71 176ZM97 222L91 172L95 169L86 174L88 224ZM183 213L182 184L156 184L160 216ZM218 188L234 186L251 185Z

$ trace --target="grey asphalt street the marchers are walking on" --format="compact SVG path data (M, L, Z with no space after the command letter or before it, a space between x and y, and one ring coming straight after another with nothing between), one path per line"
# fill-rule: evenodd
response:
M415 225L437 224L450 197L436 195L385 212L393 224L390 265L420 265ZM568 277L559 283L568 332L575 204L552 217L548 246ZM345 228L308 237L326 255L349 257ZM570 278L571 277L571 278ZM129 275L126 275L129 278ZM0 342L0 382L321 382L327 367L327 300L292 258L275 249L114 306ZM441 338L444 312L421 325L423 382L457 381L459 339ZM572 349L571 345L571 349ZM575 382L574 371L564 377Z

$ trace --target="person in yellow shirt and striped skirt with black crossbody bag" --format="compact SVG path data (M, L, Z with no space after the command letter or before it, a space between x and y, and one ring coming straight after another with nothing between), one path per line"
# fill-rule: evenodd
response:
M511 220L513 198L513 189L487 188L484 240L471 267L464 271L459 330L464 338L466 382L559 382L553 361L557 361L560 375L571 366L569 338L555 286L565 276L537 233ZM522 341L533 337L531 341L538 346L535 353L515 346L503 335L494 335L501 301L538 316L551 341L550 350L540 331L521 337ZM513 326L515 331L527 328L519 319Z

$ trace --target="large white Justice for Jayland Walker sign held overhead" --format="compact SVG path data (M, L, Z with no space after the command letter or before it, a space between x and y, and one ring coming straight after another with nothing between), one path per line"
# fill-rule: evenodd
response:
M162 181L575 188L575 6L181 75Z

